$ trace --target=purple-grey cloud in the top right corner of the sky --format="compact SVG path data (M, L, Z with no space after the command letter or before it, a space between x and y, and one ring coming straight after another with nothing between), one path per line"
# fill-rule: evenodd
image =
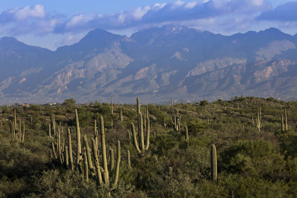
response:
M261 13L259 20L275 21L297 21L297 1L287 2L279 5L274 10Z

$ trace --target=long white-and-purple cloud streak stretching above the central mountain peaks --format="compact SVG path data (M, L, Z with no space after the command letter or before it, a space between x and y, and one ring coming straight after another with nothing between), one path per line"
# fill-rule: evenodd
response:
M188 20L201 20L218 16L253 15L269 9L271 9L271 4L266 0L204 0L203 3L197 1L185 3L177 0L168 4L132 8L129 11L113 15L80 15L80 18L84 19L83 23L81 23L81 20L74 23L73 20L78 16L73 16L64 23L58 24L54 29L54 33L66 33L97 27L119 30L164 23L184 23ZM69 26L69 23L71 23L71 26Z

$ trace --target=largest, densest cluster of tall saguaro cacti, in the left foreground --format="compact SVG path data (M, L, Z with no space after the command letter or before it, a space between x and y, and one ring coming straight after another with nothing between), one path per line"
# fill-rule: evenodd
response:
M97 122L94 120L94 138L92 138L92 148L89 148L87 141L87 136L82 136L81 144L81 132L80 124L77 110L75 109L75 120L76 120L76 154L75 154L75 163L73 163L72 155L72 143L71 143L71 133L70 129L67 128L67 144L63 138L63 143L61 143L61 133L60 128L58 127L58 133L56 136L55 143L52 142L52 153L55 159L58 159L61 165L64 165L66 169L71 169L72 171L78 170L80 173L83 173L84 179L86 182L89 181L89 176L92 178L97 178L99 185L102 185L103 182L105 185L110 187L112 191L117 184L119 176L119 165L120 165L120 142L117 141L116 146L116 164L114 167L114 152L112 148L109 148L109 161L110 167L107 167L107 156L106 156L106 146L105 146L105 129L103 117L100 117L100 137L101 137L101 155L102 155L102 166L99 165L99 149L97 142ZM55 146L56 145L56 146ZM56 152L57 150L57 152ZM92 154L91 154L92 153ZM93 160L95 161L93 166ZM75 167L74 167L75 165Z

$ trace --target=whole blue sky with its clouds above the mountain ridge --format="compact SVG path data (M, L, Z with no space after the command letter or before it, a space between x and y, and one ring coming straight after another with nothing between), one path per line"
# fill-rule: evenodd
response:
M5 0L0 3L0 37L13 36L55 50L102 28L126 34L167 24L233 34L269 27L297 33L292 0Z

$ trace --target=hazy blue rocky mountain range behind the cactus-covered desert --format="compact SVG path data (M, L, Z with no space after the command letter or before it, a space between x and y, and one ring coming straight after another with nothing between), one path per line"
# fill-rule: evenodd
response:
M95 29L51 51L0 38L0 103L297 97L297 34L230 36L181 26L130 37Z

